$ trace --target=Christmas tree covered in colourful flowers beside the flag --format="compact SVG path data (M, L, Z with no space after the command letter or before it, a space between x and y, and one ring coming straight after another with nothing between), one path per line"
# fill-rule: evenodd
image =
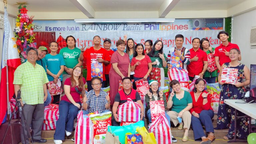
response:
M18 16L16 19L16 27L14 35L16 38L16 45L19 51L21 62L26 59L26 49L28 47L36 47L34 43L35 34L33 32L33 17L27 15L26 5L19 5Z

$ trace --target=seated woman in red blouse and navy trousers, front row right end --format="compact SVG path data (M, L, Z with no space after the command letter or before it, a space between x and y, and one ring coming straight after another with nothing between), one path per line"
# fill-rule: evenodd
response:
M214 116L213 109L211 107L211 98L209 93L207 93L205 88L206 82L204 79L197 79L195 81L195 88L190 95L193 101L193 107L190 109L192 114L191 125L194 132L194 139L200 140L201 144L210 144L215 140L214 129L212 125L212 118ZM208 134L206 137L203 127Z

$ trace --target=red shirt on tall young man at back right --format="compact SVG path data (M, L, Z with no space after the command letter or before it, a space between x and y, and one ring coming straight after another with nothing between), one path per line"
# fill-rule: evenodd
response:
M234 44L234 43L228 43L227 46L221 44L220 46L216 47L215 48L215 53L213 56L218 56L219 57L219 61L220 61L220 66L223 65L223 63L226 63L226 62L231 62L229 56L227 56L225 54L225 50L226 51L230 51L231 48L237 48L239 49L238 45L237 44ZM224 50L225 49L225 50ZM239 49L240 50L240 49Z

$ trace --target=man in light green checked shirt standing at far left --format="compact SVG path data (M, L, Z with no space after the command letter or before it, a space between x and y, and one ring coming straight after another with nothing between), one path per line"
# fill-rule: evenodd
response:
M21 90L21 105L27 120L27 125L32 124L32 140L34 142L44 143L47 140L42 139L41 129L44 121L44 101L47 98L46 84L49 82L44 68L36 63L38 52L34 47L26 50L27 62L21 64L14 72L14 90L17 97L17 91ZM25 101L24 105L22 101ZM27 130L25 129L24 140L21 129L22 143L29 143Z

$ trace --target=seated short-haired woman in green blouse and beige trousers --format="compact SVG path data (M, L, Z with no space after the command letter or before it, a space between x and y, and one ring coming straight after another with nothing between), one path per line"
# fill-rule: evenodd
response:
M181 89L179 81L172 80L170 87L172 88L172 92L167 101L167 108L171 108L171 111L168 111L167 114L175 126L178 123L180 124L178 127L179 130L185 129L182 141L186 142L188 141L188 130L191 124L191 113L189 110L193 106L192 98L189 92ZM178 117L182 118L183 122L179 122Z

